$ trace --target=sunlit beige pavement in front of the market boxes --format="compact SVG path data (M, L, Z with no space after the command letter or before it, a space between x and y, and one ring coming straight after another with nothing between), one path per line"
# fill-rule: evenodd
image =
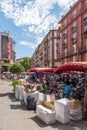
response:
M87 130L87 121L46 125L34 111L26 110L12 93L10 81L0 81L0 130Z

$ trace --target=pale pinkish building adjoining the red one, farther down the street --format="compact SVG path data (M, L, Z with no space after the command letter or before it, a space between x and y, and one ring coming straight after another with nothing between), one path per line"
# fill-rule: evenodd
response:
M50 30L32 56L32 67L57 67L59 62L60 33Z

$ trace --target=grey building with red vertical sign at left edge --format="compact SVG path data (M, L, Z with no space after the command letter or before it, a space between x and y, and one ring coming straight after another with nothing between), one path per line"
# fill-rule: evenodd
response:
M0 32L0 67L7 71L14 61L13 39L8 32Z

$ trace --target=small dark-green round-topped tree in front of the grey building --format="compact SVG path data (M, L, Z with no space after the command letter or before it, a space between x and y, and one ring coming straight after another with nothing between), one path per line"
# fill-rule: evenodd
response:
M11 65L9 69L13 74L18 74L25 71L24 67L20 63Z

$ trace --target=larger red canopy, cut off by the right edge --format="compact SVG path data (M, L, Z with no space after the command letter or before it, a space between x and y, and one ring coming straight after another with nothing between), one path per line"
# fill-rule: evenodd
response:
M67 71L85 71L87 70L87 62L69 62L58 67L54 73L63 73Z

